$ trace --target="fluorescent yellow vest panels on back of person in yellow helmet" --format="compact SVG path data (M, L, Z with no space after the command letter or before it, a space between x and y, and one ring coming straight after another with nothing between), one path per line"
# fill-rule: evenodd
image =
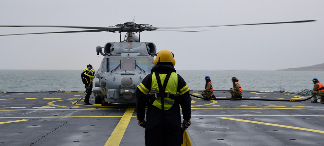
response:
M161 84L163 85L164 80L166 78L167 74L159 74L159 77L161 79ZM167 87L165 88L165 93L169 93L170 95L175 95L178 96L179 92L177 92L178 89L178 74L175 72L171 73L171 76L168 80ZM189 89L189 88L188 88ZM155 76L155 72L152 75L152 87L151 91L149 91L149 95L154 96L155 93L159 91L159 87L157 85L157 80ZM164 104L164 110L168 110L171 108L171 106L174 103L174 99L172 98L164 98L163 99L163 104ZM156 106L159 109L162 109L162 104L161 104L161 97L155 98L155 101L153 102L153 105Z

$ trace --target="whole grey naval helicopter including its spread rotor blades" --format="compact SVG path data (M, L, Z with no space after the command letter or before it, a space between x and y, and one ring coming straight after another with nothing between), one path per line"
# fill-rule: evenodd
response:
M134 20L133 20L134 21ZM108 42L104 47L97 46L97 56L103 57L100 67L94 78L93 94L95 104L106 103L136 103L135 92L137 85L150 74L154 66L154 56L156 55L156 45L153 42L141 42L140 32L153 30L167 31L205 31L205 30L171 30L187 28L206 28L221 26L242 26L242 25L263 25L263 24L283 24L283 23L303 23L316 20L272 22L272 23L254 23L254 24L235 24L235 25L211 25L211 26L189 26L189 27L154 27L149 24L136 24L134 22L125 22L109 27L80 27L80 26L49 26L49 25L0 25L0 27L61 27L78 28L88 30L77 31L59 31L59 32L41 32L41 33L22 33L5 34L25 35L25 34L48 34L48 33L78 33L78 32L119 32L120 42ZM126 32L124 40L121 41L121 32ZM138 33L138 36L135 35Z

